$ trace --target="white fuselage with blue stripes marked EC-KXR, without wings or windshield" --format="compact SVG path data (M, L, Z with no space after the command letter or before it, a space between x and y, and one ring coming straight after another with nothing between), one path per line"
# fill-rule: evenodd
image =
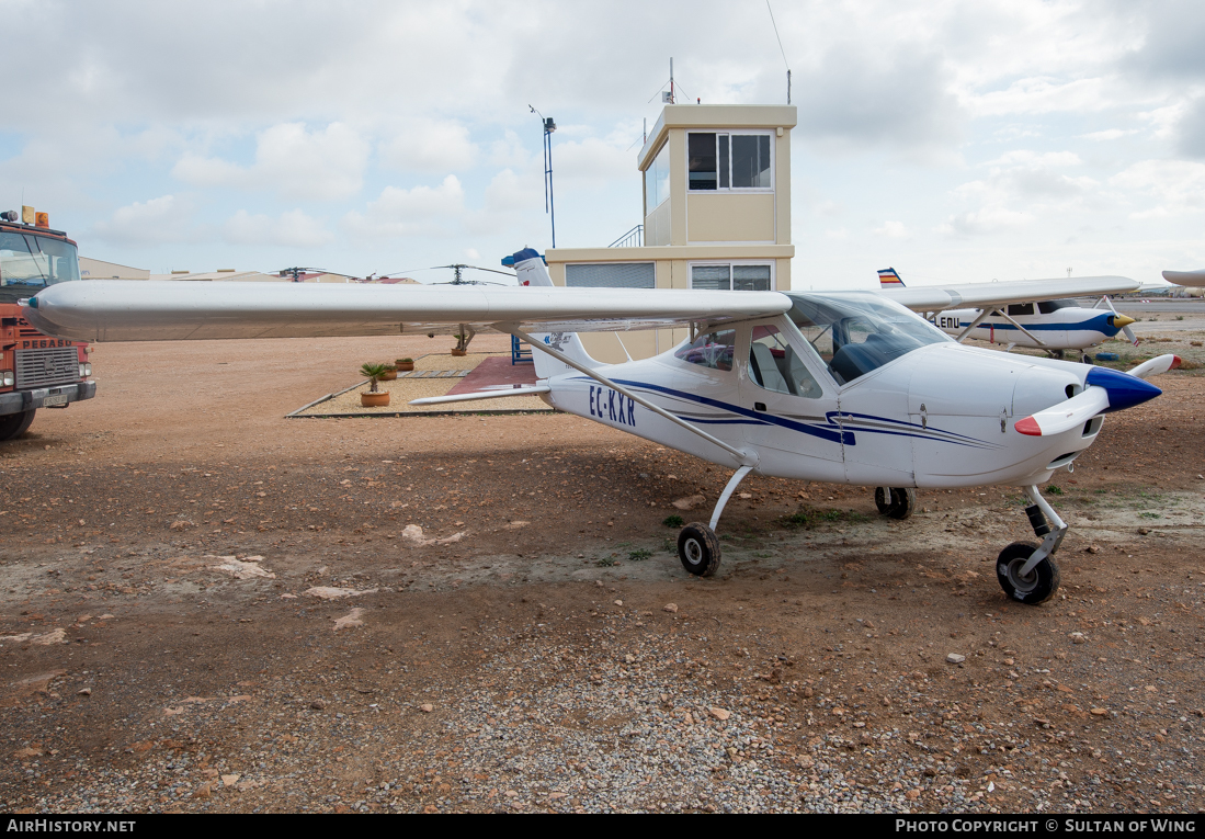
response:
M756 329L777 325L807 365L807 397L762 387L751 370ZM1088 368L1006 356L953 341L909 352L846 385L786 316L743 322L730 360L690 363L675 351L596 371L752 454L754 471L787 479L893 487L1028 486L1046 481L1092 445L1101 421L1056 436L1019 434L1015 420L1066 399ZM539 351L536 351L539 352ZM564 365L560 365L564 366ZM727 366L728 369L723 369ZM730 453L622 393L565 366L546 401L717 464Z

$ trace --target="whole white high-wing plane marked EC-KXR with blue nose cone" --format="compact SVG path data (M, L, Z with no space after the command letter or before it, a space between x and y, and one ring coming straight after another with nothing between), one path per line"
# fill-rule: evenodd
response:
M734 474L711 520L678 534L678 557L709 576L716 527L751 473L874 487L881 512L906 518L916 488L1022 487L1035 542L995 563L1027 604L1058 588L1068 526L1038 487L1098 438L1104 415L1160 391L1145 381L1178 363L1129 372L968 347L909 310L994 305L1124 291L1121 277L871 292L559 288L539 253L513 256L519 288L123 282L51 286L25 317L87 341L466 334L528 341L539 381L521 389L435 397L446 403L523 393L551 406L689 452ZM900 304L904 305L900 305ZM907 306L907 307L905 307ZM688 328L659 356L604 364L576 333Z

